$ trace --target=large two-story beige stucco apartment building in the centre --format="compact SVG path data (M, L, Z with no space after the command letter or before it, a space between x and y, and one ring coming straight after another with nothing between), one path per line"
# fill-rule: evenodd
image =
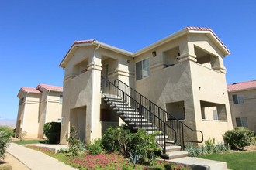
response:
M137 41L140 39L132 43ZM149 126L144 127L147 131L155 129L154 126L165 131L175 117L178 124L182 122L202 131L205 139L223 141L222 134L233 127L223 64L228 54L229 49L215 33L201 27L186 27L136 53L94 39L74 42L60 64L65 70L61 143L67 143L71 125L79 128L81 140L91 141L102 137L109 125L123 122L133 128L140 124ZM140 99L135 92L132 95L130 87L124 93L112 86L116 79L153 103L149 100L144 103L146 99L141 100L139 93L136 95ZM122 104L108 99L109 93L130 109L122 111ZM127 114L130 110L135 111ZM136 117L144 117L140 119L143 123L136 122ZM182 131L177 127L172 126L169 131ZM182 128L185 128L184 138L191 135L188 139L202 140L199 131L190 131L185 125Z

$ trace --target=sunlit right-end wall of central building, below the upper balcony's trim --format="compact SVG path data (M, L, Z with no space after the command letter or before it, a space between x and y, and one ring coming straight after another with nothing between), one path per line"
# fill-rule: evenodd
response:
M215 138L216 142L223 142L222 134L232 129L225 74L198 63L191 63L191 70L196 128L203 132L206 140L210 137ZM200 100L224 104L227 120L202 120Z

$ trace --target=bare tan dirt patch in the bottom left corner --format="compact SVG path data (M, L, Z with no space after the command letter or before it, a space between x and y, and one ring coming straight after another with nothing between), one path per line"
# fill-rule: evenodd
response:
M2 164L1 164L2 162ZM10 155L9 153L5 153L5 160L0 160L0 170L29 170L29 168L24 165L22 162L19 162L17 158Z

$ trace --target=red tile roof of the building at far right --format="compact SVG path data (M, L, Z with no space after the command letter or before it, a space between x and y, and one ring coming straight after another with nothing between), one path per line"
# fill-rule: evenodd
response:
M229 92L240 91L240 90L251 90L256 89L256 80L241 82L241 83L233 83L227 85L227 90Z

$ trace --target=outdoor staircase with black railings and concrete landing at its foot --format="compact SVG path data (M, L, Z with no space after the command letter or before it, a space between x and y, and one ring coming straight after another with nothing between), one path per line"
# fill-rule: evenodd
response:
M120 80L111 83L102 78L102 100L116 110L119 117L129 125L132 131L144 128L147 134L159 131L156 141L162 148L162 158L182 165L189 165L192 170L226 170L226 162L216 162L202 158L188 157L183 151L185 142L201 143L202 131L193 130L165 110L148 100L133 88ZM171 122L166 121L171 118ZM185 133L186 132L186 133ZM187 139L188 134L201 134L200 141Z

